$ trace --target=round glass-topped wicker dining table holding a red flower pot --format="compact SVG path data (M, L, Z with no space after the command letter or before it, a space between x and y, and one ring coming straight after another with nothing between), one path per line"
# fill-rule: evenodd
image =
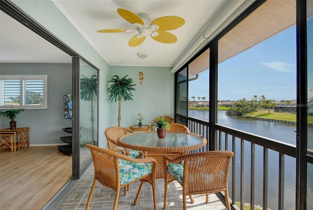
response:
M156 131L131 133L120 137L117 143L125 148L139 150L157 161L156 179L164 178L163 156L176 157L199 149L206 139L197 134L168 131L165 139L158 139Z

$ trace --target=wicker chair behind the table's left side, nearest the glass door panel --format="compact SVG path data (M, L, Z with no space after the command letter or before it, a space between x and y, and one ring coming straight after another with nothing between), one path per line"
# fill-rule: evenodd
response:
M134 133L134 131L124 128L124 127L109 127L105 130L104 135L106 136L108 140L108 146L109 149L121 149L123 147L120 147L117 145L117 140L118 138L129 134L129 133ZM127 149L123 148L126 152L126 155L131 156L132 158L141 158L142 153L138 150L132 150L132 149Z

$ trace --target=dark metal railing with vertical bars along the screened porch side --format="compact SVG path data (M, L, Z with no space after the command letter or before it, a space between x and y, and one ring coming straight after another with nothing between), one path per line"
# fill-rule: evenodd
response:
M203 121L201 119L193 117L184 117L176 115L176 122L188 125L191 133L195 133L203 136L208 140L209 136L209 122ZM217 135L215 137L218 145L217 150L231 150L234 152L235 156L232 159L231 168L229 172L229 182L228 191L231 199L232 208L236 209L233 205L235 201L240 205L240 209L244 209L245 203L248 203L251 210L255 209L256 206L262 206L263 210L268 209L268 199L275 199L275 209L283 210L286 205L290 209L295 208L295 199L288 200L288 204L284 202L285 197L285 177L292 176L294 182L289 182L287 185L293 185L291 188L296 186L295 183L295 157L296 157L296 146L285 143L278 140L273 140L270 138L258 136L241 130L226 127L220 124L214 125ZM210 142L208 140L208 142ZM209 145L202 147L201 149L191 151L201 152L208 151ZM261 152L260 152L261 151ZM262 153L262 154L260 154ZM269 155L270 153L270 155ZM277 158L278 156L278 158ZM256 161L257 157L257 161ZM275 157L275 158L273 158ZM289 163L294 163L294 174L285 173L285 158L289 160ZM275 159L275 160L274 160ZM273 163L278 161L278 163ZM238 166L238 164L239 166ZM270 170L269 170L270 163ZM277 167L275 165L278 165ZM258 172L256 172L256 166ZM274 166L274 168L272 167ZM291 170L291 168L288 168ZM260 172L262 171L262 173ZM260 173L261 174L260 174ZM270 175L269 175L270 173ZM272 176L274 174L274 176ZM256 189L256 175L258 176L258 181L261 182L262 186ZM269 178L272 180L269 186ZM248 180L248 186L245 181ZM277 185L277 195L269 196L268 191ZM252 183L252 184L251 184ZM260 186L260 183L258 183ZM257 191L256 191L257 190ZM262 190L262 193L260 192ZM290 190L289 190L290 191ZM256 195L257 192L257 195ZM289 192L290 193L290 192ZM224 200L224 195L222 193L217 194ZM246 196L245 196L246 195ZM248 196L247 196L248 195ZM260 196L261 195L261 196ZM295 196L295 192L294 192ZM247 197L249 197L247 201ZM259 200L255 202L255 198ZM260 198L262 197L262 198ZM260 201L260 199L262 201ZM290 199L290 198L289 198ZM261 203L262 202L262 203ZM276 206L277 205L277 206ZM274 209L273 208L273 209ZM287 209L289 209L287 208Z

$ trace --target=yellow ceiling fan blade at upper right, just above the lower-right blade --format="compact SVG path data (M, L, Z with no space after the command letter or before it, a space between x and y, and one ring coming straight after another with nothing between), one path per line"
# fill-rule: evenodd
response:
M152 24L158 25L158 31L169 31L181 27L185 20L178 16L164 16L152 21Z

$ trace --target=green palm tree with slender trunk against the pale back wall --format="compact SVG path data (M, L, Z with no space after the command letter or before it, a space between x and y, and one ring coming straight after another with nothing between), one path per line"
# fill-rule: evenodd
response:
M118 117L117 117L117 126L121 126L121 101L124 98L124 101L133 100L132 91L136 89L133 88L135 84L133 83L132 78L126 78L128 75L123 78L119 78L117 75L114 75L109 82L111 82L110 88L108 88L109 101L118 100Z

